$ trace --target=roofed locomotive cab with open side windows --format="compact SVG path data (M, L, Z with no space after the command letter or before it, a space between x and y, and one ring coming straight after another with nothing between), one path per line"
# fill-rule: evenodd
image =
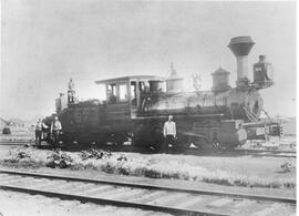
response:
M95 81L105 88L107 120L136 117L147 102L165 92L165 79L153 75L123 76Z

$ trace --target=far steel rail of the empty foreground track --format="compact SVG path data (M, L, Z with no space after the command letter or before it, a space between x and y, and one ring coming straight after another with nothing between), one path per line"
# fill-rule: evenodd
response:
M126 187L135 187L143 189L161 189L161 191L171 191L171 192L184 192L192 193L197 195L218 195L218 196L227 196L227 197L236 197L236 198L246 198L246 199L255 199L255 200L268 200L268 202L277 202L277 203L289 203L296 204L296 198L283 197L283 196L265 196L265 195L251 195L245 193L229 193L225 191L207 191L207 189L197 189L197 188L176 188L171 186L158 186L158 185L148 185L141 183L127 183L121 181L106 181L106 179L95 179L95 178L80 178L69 175L52 175L52 174L42 174L42 173L25 173L25 172L14 172L14 171L6 171L0 169L0 173L11 174L11 175L22 175L22 176L31 176L31 177L43 177L43 178L52 178L52 179L64 179L64 181L73 181L73 182L84 182L84 183L95 183L95 184L109 184L109 185L117 185L117 186L126 186Z

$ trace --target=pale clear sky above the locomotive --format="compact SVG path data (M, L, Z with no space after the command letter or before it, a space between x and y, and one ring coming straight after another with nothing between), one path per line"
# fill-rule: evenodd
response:
M259 54L274 64L275 86L261 90L270 115L296 115L296 2L245 1L1 1L0 116L32 119L54 112L70 78L79 99L99 99L95 80L230 72L230 39L250 35L249 78Z

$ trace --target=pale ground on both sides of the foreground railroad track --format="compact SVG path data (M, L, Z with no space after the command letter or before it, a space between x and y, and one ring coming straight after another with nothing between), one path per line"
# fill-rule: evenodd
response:
M289 137L288 137L289 138ZM269 142L270 148L293 150L293 137ZM278 144L278 145L277 145ZM282 145L281 145L282 144ZM278 146L278 147L277 147ZM247 148L260 148L252 142ZM140 154L94 152L90 158L82 152L53 153L50 150L0 145L0 168L24 172L52 173L96 179L118 179L153 185L167 185L182 188L215 189L252 195L296 197L296 169L285 172L282 164L296 166L295 157L260 157L252 155L236 156L194 156L183 154ZM103 155L101 156L101 154ZM66 168L47 167L53 154L70 160ZM63 155L63 156L62 156ZM96 155L100 157L96 158ZM49 157L50 156L50 157ZM90 156L87 154L87 156ZM213 183L213 184L210 184ZM269 187L275 187L269 189ZM0 191L0 209L3 215L156 215L133 208L116 208L80 204L75 200L60 200L21 193ZM14 208L18 203L18 208ZM23 212L25 209L25 212ZM164 214L161 214L164 215Z

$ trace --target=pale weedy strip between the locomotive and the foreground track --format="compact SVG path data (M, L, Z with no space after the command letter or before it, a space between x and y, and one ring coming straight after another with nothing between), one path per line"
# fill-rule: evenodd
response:
M286 172L281 167L283 164L296 167L295 157L194 156L125 152L114 152L109 155L106 152L95 153L104 155L101 158L95 156L86 158L82 152L60 152L55 153L54 157L58 157L58 163L59 161L69 162L63 167L69 166L68 168L71 169L86 172L95 169L122 175L177 178L230 186L296 187L296 169ZM51 160L53 161L53 151L19 147L6 154L1 164L17 167L44 167L49 165Z

